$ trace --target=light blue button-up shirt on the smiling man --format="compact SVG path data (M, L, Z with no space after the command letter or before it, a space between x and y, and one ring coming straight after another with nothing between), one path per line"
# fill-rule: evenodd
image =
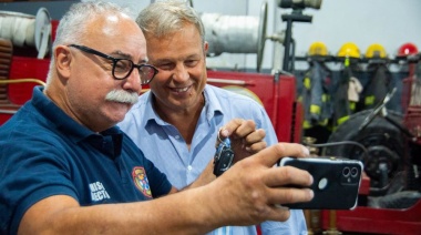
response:
M152 92L142 94L119 126L177 188L187 186L201 175L214 157L219 127L233 119L254 120L257 129L266 131L268 145L278 142L270 119L259 103L246 95L207 84L204 90L205 106L188 150L178 130L164 122L153 110L152 95ZM265 222L260 228L264 235L307 234L306 221L299 210L291 211L287 222ZM209 234L251 235L257 232L255 226L229 226Z

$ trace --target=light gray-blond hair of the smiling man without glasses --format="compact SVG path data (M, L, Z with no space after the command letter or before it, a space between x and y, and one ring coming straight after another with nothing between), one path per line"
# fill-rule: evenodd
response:
M183 29L184 23L193 23L205 42L205 28L198 13L186 2L158 1L150 4L141 11L136 23L141 27L145 37L152 34L162 38Z

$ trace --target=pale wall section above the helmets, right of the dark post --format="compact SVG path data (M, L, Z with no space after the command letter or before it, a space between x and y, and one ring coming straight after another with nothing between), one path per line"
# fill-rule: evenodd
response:
M322 41L336 54L348 41L361 53L372 43L381 43L394 58L398 48L412 42L421 49L420 0L325 0L320 10L308 10L311 24L294 27L298 55L305 55L314 41Z

